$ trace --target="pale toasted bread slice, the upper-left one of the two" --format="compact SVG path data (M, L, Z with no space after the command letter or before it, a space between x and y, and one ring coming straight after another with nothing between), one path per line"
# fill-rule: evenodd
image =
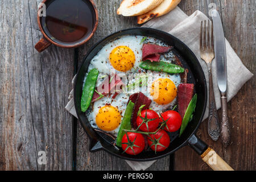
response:
M163 0L123 0L117 10L117 14L123 16L142 15L151 11L162 2Z

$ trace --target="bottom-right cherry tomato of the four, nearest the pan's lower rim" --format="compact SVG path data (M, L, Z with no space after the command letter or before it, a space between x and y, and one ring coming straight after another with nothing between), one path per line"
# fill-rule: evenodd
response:
M151 150L154 150L155 152L161 152L166 150L166 148L168 148L170 145L170 137L166 131L159 130L156 134L150 134L147 137L147 142Z

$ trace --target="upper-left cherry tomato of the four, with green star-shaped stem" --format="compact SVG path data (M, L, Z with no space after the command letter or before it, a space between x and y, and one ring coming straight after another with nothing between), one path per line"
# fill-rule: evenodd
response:
M147 117L146 117L147 112ZM145 121L141 125L141 123ZM160 119L158 113L156 113L154 110L146 109L141 112L141 115L137 117L137 126L141 125L139 127L140 130L146 131L146 132L154 132L159 126Z

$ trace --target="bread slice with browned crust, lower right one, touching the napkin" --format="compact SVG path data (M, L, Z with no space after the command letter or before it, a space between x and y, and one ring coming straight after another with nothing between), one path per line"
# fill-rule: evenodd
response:
M137 23L142 24L154 17L162 16L169 13L177 5L179 5L180 1L181 0L164 0L162 3L160 3L159 6L155 7L155 9L149 11L146 14L139 15L137 17Z

